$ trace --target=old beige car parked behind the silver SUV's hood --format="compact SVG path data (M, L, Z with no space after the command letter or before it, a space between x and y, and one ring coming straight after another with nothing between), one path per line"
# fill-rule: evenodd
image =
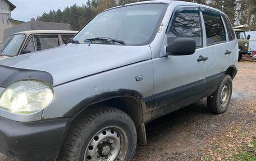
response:
M0 59L67 44L77 31L30 30L10 35L0 48Z

